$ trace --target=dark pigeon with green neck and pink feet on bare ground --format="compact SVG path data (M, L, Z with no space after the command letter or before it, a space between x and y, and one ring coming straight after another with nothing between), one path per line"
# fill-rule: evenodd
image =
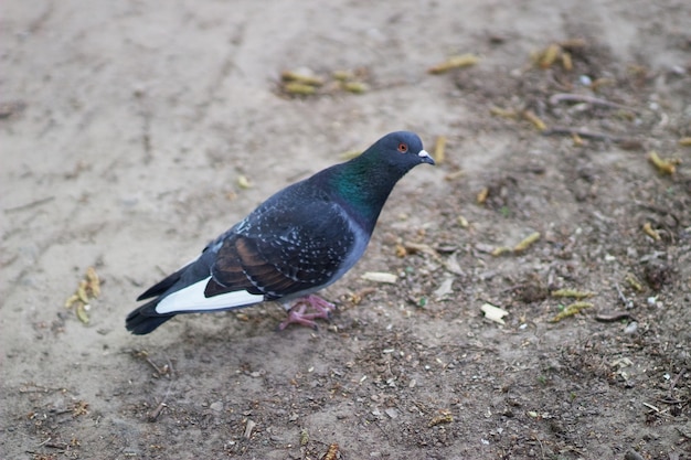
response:
M396 131L359 157L283 189L139 296L151 300L127 315L127 330L148 334L176 314L265 301L279 301L288 312L280 329L316 328L313 320L328 319L334 306L315 292L362 257L394 185L422 163L434 160L419 137Z

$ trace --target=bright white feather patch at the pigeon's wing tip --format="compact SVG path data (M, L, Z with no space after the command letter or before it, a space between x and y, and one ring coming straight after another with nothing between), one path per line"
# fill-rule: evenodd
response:
M263 295L249 293L245 290L205 297L204 289L210 279L211 277L202 279L163 298L156 306L156 312L166 314L182 311L228 310L259 303L264 300Z

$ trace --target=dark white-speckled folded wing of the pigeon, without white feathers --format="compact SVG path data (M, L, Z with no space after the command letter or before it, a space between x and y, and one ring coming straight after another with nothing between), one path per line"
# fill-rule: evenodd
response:
M288 195L298 195L290 191ZM278 299L319 289L340 275L355 236L333 202L270 201L226 235L205 295L246 289ZM297 203L297 205L296 205Z

